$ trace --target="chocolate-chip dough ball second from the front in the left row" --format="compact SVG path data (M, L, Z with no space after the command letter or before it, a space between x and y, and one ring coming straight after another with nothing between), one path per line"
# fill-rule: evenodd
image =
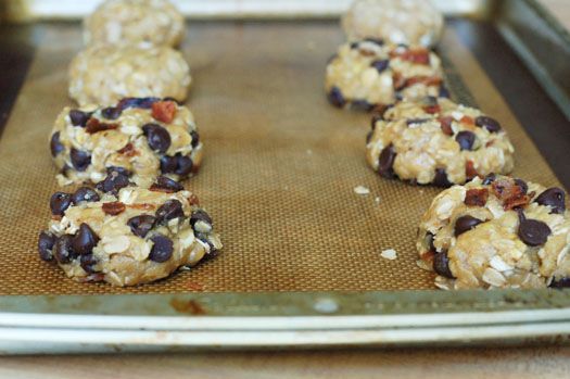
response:
M172 100L126 98L114 106L65 108L50 137L60 185L98 182L110 167L148 187L160 175L198 172L202 142L188 108Z

